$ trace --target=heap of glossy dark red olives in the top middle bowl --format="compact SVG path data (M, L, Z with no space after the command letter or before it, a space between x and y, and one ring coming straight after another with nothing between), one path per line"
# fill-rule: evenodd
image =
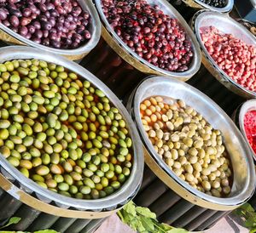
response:
M177 19L145 0L102 0L108 23L139 57L166 71L189 70L194 51Z

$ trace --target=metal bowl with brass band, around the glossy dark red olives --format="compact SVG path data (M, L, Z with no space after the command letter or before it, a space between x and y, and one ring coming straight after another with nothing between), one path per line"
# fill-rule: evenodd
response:
M126 62L130 65L137 68L137 70L142 71L148 74L158 74L164 75L168 77L177 78L181 81L187 81L190 77L194 76L195 73L200 69L201 65L201 53L199 45L195 39L193 31L189 28L186 21L183 17L177 12L176 9L172 7L170 3L167 3L165 0L148 0L147 1L151 5L158 5L161 10L165 14L168 14L174 18L177 18L180 25L183 26L184 31L189 37L189 41L192 43L192 48L194 50L194 58L189 65L189 70L184 72L173 72L173 71L165 71L160 69L159 67L152 65L147 60L142 59L139 55L131 50L122 40L121 38L115 33L112 26L109 25L105 14L102 11L102 0L95 0L96 9L100 14L102 20L102 37L106 40L113 50L119 56L121 56Z

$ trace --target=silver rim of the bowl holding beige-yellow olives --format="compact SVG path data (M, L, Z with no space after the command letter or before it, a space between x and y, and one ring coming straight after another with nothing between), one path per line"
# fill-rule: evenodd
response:
M179 177L177 177L177 175L174 172L172 172L172 169L170 169L166 165L166 162L164 162L160 158L160 156L156 153L156 151L154 151L154 147L151 144L151 142L149 141L148 135L146 134L146 132L143 128L143 123L141 121L141 117L140 117L140 114L139 114L139 105L140 105L139 102L140 102L140 98L141 98L141 95L143 94L144 89L157 88L157 82L159 82L159 83L163 82L163 83L166 83L166 85L171 85L171 84L172 85L176 85L176 84L182 85L183 88L189 89L189 91L192 91L193 93L195 93L197 95L200 95L202 99L207 101L209 104L211 104L215 108L216 111L218 111L218 113L219 113L219 115L221 115L221 117L224 117L226 120L228 120L228 123L232 126L232 128L236 129L236 134L238 135L239 139L242 140L241 145L244 144L243 147L247 150L247 153L245 153L247 156L244 157L244 158L245 158L245 163L247 165L247 175L249 176L249 178L247 178L247 184L242 189L242 190L245 190L243 193L241 193L241 192L237 193L236 192L235 196L215 197L215 196L209 196L209 195L201 192L200 190L196 190L191 185L189 185L188 183L183 181L183 179L180 179ZM154 85L154 83L155 83L155 85ZM154 95L155 94L152 94L152 96L154 96ZM166 94L166 96L172 98L172 94L169 94L169 95ZM244 139L243 135L241 134L239 129L236 127L236 124L206 94L201 93L200 90L190 86L186 82L180 82L180 81L173 80L173 79L171 80L171 79L168 79L166 77L151 77L151 78L148 78L148 79L144 80L143 82L141 82L137 86L137 89L133 93L132 103L130 103L130 105L131 105L132 116L135 119L139 134L141 136L141 139L143 140L143 145L145 146L145 149L148 151L149 156L151 156L151 158L154 159L154 161L158 163L160 168L162 168L170 176L171 179L173 179L178 185L180 185L182 187L182 190L189 191L190 194L199 197L203 201L218 204L218 207L220 207L220 206L222 206L222 207L223 206L225 206L225 207L239 206L243 202L247 201L247 199L250 196L253 195L253 190L255 189L255 185L254 185L254 183L255 183L254 182L255 181L255 172L254 172L254 167L253 167L253 157L250 156L250 148L247 145L247 142ZM129 107L128 107L128 109L129 109ZM199 205L199 203L198 203L198 205ZM211 208L210 205L209 205L209 208Z

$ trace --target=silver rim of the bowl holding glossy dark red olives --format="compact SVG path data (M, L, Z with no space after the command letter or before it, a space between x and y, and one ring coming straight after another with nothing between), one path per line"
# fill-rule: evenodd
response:
M148 2L150 5L152 5L153 0L149 0L151 2ZM150 69L153 71L157 71L161 73L161 75L166 75L169 77L192 77L195 75L197 71L199 71L200 66L201 66L201 51L199 44L197 40L195 39L195 35L193 31L190 29L188 23L183 19L182 15L177 12L176 9L172 7L170 3L168 3L166 0L156 0L153 1L155 4L160 3L162 9L165 14L174 16L178 23L183 27L183 30L185 31L187 37L189 38L190 43L192 44L193 52L194 52L194 57L193 60L191 61L189 65L189 70L183 71L183 72L175 72L175 71L166 71L164 69L161 69L151 63L149 63L147 60L144 60L141 58L137 53L131 50L131 48L126 45L126 43L123 42L123 40L117 35L117 33L113 30L112 26L109 25L108 20L103 13L102 10L102 0L94 0L96 4L96 10L98 14L100 15L100 18L102 20L102 26L106 27L108 33L111 35L113 38L114 43L118 43L123 50L125 50L126 54L130 54L133 58L135 58L138 62L142 63L143 65L148 66ZM168 11L168 13L167 13Z

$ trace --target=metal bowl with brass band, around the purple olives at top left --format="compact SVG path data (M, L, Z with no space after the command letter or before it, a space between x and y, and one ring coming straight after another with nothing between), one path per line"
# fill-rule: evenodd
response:
M79 60L82 59L86 54L90 53L90 50L96 47L96 44L99 42L101 37L101 21L96 12L96 9L91 3L91 1L78 0L82 9L87 10L91 16L90 28L91 33L90 41L84 43L79 48L74 49L63 49L63 48L51 48L44 46L43 44L35 43L32 40L26 39L26 37L20 36L9 29L9 27L0 24L0 38L6 43L18 44L18 45L28 45L35 48L41 48L44 51L51 52L53 54L58 54L67 57L69 60Z

